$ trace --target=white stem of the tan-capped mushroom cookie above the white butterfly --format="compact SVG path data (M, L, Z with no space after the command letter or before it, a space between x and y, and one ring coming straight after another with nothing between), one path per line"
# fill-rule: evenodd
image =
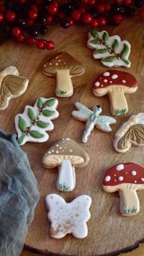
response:
M70 160L62 160L59 167L57 189L60 191L72 191L76 185L76 175Z

